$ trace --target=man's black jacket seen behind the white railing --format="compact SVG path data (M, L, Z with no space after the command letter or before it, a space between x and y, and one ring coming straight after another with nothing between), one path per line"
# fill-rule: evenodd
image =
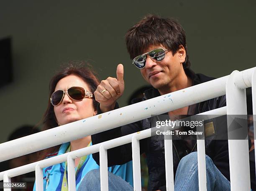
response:
M192 79L192 85L197 85L199 83L204 83L206 81L214 79L202 74L195 74L191 70L187 71L187 75ZM158 90L156 90L155 88L151 88L145 91L144 97L139 101L145 101L146 99L155 98L157 96L160 96ZM138 102L138 100L135 100L133 103L136 102ZM194 114L210 111L212 109L220 108L225 105L225 95L218 98L213 98L208 101L197 103L195 106ZM118 108L117 105L116 108ZM98 107L98 114L99 113L101 113L101 111ZM125 136L148 128L151 128L151 118L92 135L92 144L101 143L103 141L108 141L110 139ZM174 177L180 159L191 150L196 151L196 140L192 141L192 148L189 148L187 144L184 143L184 141L182 140L173 141ZM140 141L140 151L141 153L145 152L147 156L149 174L148 190L166 190L164 140L156 137L149 137L143 139ZM227 139L205 140L205 153L212 159L213 163L220 170L220 172L229 180L230 174ZM99 153L93 154L93 158L98 164L100 163ZM108 166L120 165L131 160L131 143L108 150Z

